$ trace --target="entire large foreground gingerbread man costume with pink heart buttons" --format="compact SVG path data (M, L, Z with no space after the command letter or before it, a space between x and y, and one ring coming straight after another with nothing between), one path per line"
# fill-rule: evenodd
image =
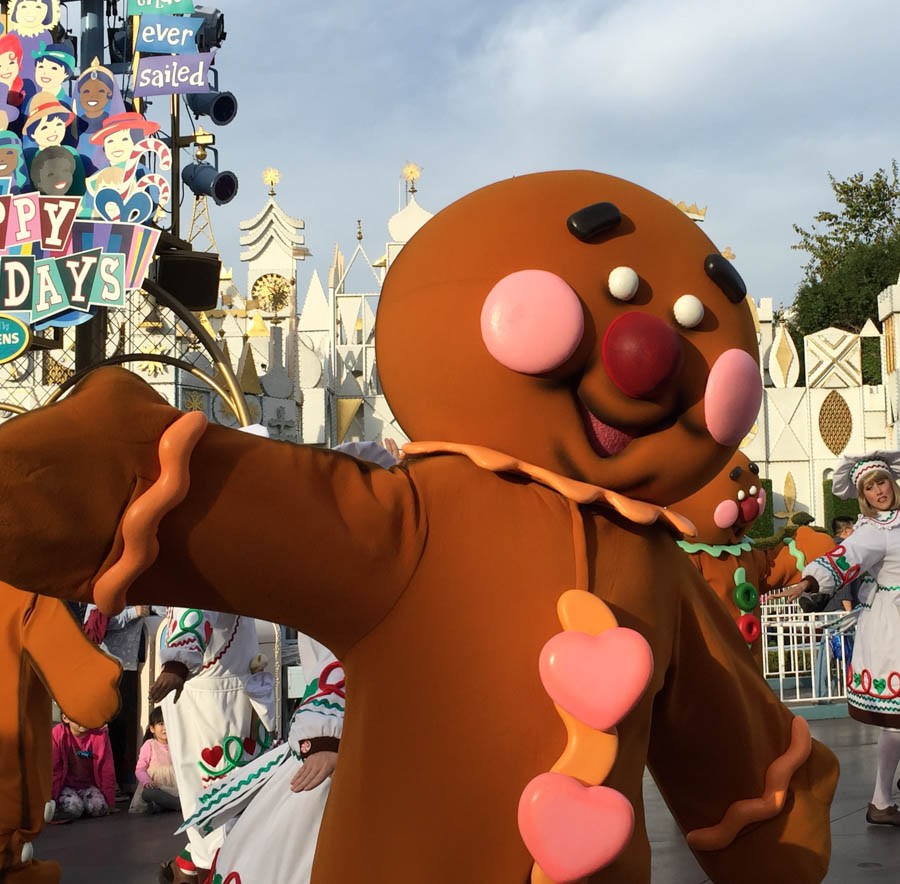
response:
M714 881L819 881L834 756L759 678L659 505L756 417L744 295L629 182L476 191L385 281L379 373L417 440L401 467L207 427L98 371L0 428L0 577L105 610L239 611L331 648L347 717L313 884L645 882L647 763ZM52 495L25 478L37 464Z

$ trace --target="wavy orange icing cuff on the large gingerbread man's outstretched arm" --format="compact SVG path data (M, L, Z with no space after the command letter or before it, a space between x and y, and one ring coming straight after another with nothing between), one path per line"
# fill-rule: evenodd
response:
M168 426L160 437L159 476L126 510L122 517L122 555L94 584L94 601L104 614L115 614L125 607L128 587L156 561L159 523L187 497L188 463L207 423L203 412L192 411Z

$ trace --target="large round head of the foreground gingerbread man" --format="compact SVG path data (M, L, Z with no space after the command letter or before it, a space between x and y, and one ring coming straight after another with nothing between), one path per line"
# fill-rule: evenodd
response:
M670 503L756 419L740 276L679 209L595 172L450 205L387 275L378 371L418 441L481 445Z

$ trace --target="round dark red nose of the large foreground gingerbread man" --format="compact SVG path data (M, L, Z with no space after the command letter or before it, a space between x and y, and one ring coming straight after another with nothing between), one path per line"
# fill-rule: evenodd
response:
M612 382L632 399L653 399L681 370L681 338L648 313L625 313L603 338L603 365Z

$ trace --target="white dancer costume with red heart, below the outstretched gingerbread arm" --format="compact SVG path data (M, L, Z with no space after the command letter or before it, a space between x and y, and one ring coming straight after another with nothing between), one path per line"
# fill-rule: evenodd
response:
M184 818L201 795L262 754L275 727L274 680L250 671L259 653L256 621L196 608L169 608L160 658L189 673L178 702L162 701ZM253 716L253 712L256 716ZM187 830L191 860L208 869L225 840L223 828Z

